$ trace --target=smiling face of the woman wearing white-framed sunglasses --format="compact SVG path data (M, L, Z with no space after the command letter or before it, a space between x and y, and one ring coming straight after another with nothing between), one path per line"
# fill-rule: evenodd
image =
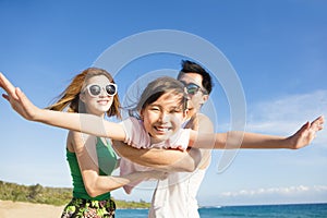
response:
M87 86L90 84L98 85L101 90L97 96L94 96L87 90ZM84 92L81 93L80 98L85 104L86 111L92 114L104 117L110 109L113 96L108 95L106 86L111 84L108 77L105 75L93 76L87 80Z

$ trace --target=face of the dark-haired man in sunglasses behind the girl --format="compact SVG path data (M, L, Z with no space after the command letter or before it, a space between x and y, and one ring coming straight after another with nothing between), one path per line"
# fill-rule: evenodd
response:
M208 99L208 95L205 94L205 88L202 86L202 75L197 73L183 73L179 81L182 82L190 90L189 95L189 117L199 112L201 106Z

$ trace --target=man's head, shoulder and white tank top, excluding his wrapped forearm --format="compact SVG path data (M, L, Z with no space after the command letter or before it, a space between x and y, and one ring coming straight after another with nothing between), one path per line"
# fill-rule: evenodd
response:
M199 133L214 133L209 119L199 113L202 106L208 100L213 88L211 77L199 64L185 60L178 75L187 90L190 98L187 121L184 128ZM196 194L210 164L210 152L201 150L202 161L194 172L169 173L168 179L158 181L153 196L150 218L198 218Z

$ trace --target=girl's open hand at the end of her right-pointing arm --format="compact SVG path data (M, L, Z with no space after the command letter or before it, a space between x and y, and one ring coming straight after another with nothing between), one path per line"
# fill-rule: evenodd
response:
M323 130L324 123L325 119L323 116L318 117L312 123L306 122L295 134L288 138L290 148L299 149L308 145L316 137L316 133Z

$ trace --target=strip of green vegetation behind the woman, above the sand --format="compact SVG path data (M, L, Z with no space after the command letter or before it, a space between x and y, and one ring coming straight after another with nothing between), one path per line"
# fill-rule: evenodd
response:
M13 202L28 202L62 206L72 198L72 189L45 187L40 184L20 185L0 181L0 199ZM114 199L118 208L149 208L150 204L144 201L125 202Z

